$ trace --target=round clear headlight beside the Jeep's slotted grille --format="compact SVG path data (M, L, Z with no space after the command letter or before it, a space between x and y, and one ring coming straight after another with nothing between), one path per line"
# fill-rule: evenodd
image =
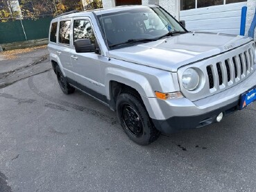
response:
M198 88L200 77L195 69L189 68L182 75L182 85L185 89L193 91Z

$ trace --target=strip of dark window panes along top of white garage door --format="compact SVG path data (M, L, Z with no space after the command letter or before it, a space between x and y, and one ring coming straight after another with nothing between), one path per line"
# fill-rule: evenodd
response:
M245 2L246 0L180 0L180 10L189 10L194 8L205 8L210 6L219 6L230 3Z

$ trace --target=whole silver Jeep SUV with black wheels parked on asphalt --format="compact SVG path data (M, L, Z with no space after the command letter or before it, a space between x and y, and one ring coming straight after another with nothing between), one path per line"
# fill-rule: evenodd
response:
M62 91L79 89L117 111L141 145L219 122L256 99L253 39L189 32L160 6L60 15L48 49Z

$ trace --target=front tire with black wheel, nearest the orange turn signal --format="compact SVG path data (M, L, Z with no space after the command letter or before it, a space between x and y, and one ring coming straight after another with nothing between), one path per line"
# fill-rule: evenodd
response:
M133 94L123 93L117 97L117 117L123 130L135 143L146 146L155 141L160 132L154 127L148 112Z

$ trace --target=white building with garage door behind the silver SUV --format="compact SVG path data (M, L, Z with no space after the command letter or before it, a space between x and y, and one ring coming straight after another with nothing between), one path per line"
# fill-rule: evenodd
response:
M178 20L186 21L188 30L239 35L241 8L247 6L246 35L255 15L255 0L102 0L103 8L122 5L158 4ZM256 33L255 33L256 37Z

